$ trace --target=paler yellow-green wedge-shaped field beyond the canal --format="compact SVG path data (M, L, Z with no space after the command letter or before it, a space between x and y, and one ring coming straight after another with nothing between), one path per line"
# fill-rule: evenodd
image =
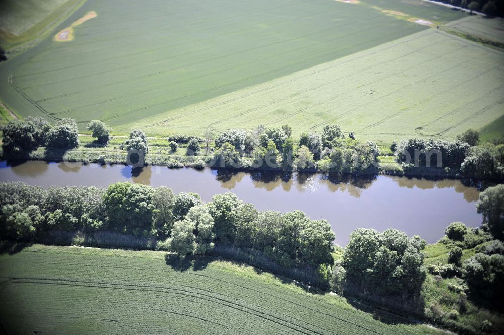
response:
M504 114L502 56L429 29L142 122L150 133L192 124L249 128L261 120L292 124L294 133L336 123L361 139L385 142L454 138Z

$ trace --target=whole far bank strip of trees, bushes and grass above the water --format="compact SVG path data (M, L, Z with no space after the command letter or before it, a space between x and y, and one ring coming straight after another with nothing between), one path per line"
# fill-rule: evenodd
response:
M418 138L394 142L389 156L381 156L372 141L359 141L353 133L346 136L337 125L327 125L321 133L302 133L297 143L288 125L230 129L216 135L207 131L205 138L148 138L138 129L128 137L114 138L99 120L91 121L88 130L92 137L79 136L72 119L62 119L55 126L43 118L11 121L2 129L2 155L11 161L67 160L140 168L161 165L504 180L504 140L479 144L474 130L453 142Z

